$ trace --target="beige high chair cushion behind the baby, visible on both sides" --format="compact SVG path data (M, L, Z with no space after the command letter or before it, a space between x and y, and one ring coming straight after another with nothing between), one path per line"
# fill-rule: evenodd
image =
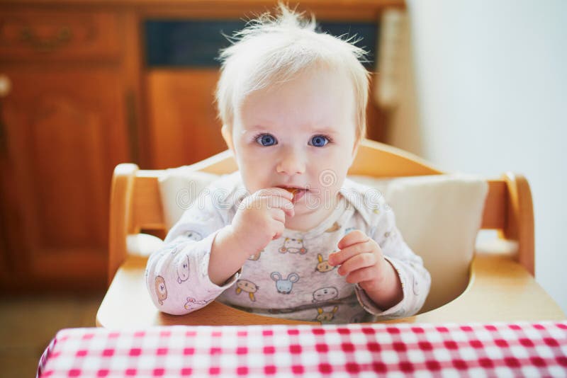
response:
M464 175L349 177L383 193L405 241L430 271L432 288L421 312L459 296L468 284L488 183ZM218 176L185 167L169 169L159 178L168 229L215 178Z

